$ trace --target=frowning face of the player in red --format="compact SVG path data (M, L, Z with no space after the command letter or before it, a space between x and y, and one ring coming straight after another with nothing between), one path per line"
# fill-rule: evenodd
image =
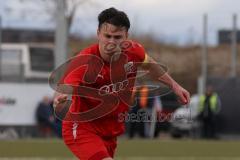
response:
M99 49L101 56L109 61L114 53L119 53L118 46L128 37L128 32L125 27L117 27L109 23L102 24L97 31Z

